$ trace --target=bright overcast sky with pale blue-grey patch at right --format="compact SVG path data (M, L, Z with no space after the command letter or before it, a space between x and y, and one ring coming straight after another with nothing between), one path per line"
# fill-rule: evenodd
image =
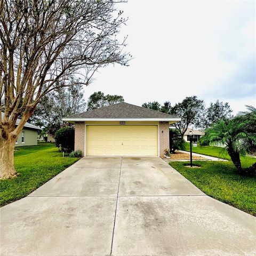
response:
M118 6L119 7L119 6ZM133 60L100 69L85 89L125 102L189 95L229 102L234 114L256 102L255 1L135 1L120 5Z

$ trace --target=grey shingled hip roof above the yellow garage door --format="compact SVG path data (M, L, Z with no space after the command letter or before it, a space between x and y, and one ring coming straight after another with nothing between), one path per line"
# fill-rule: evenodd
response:
M151 110L148 108L143 108L139 106L135 106L126 102L120 102L115 105L110 105L107 107L102 107L98 109L93 109L86 111L81 114L76 114L72 116L68 116L63 120L71 121L71 119L90 119L90 118L158 118L158 119L169 119L178 117L168 115L159 111ZM178 118L179 119L179 118Z

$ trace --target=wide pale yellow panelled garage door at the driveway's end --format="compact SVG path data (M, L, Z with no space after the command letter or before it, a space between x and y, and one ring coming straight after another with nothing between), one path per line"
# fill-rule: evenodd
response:
M157 156L157 125L87 125L86 156Z

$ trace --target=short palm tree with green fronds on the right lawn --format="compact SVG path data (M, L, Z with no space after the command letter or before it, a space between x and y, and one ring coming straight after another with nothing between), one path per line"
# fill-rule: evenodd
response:
M250 151L252 145L256 145L255 117L256 109L252 107L246 113L221 120L205 130L205 135L201 137L200 143L201 145L222 143L238 173L252 173L256 169L256 164L249 169L242 169L240 155L245 155Z

